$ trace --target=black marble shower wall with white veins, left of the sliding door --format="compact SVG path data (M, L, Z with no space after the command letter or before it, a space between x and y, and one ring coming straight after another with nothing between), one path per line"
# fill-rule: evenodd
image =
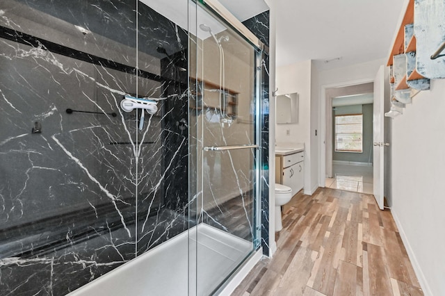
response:
M0 295L65 295L188 228L187 50L140 2L1 1ZM163 98L142 131L124 94Z

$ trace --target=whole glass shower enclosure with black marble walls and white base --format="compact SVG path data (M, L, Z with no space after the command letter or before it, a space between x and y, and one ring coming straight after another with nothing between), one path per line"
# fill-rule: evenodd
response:
M220 292L259 254L262 43L215 0L0 2L0 296Z

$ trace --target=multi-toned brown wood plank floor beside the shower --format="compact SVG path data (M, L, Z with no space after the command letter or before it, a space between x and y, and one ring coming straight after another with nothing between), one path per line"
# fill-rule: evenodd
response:
M232 295L423 295L390 211L373 195L318 188L283 208L277 252Z

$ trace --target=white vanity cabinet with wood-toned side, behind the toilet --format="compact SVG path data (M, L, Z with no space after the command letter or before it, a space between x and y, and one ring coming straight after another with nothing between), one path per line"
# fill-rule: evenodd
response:
M292 188L292 195L302 190L305 182L304 152L275 154L275 183Z

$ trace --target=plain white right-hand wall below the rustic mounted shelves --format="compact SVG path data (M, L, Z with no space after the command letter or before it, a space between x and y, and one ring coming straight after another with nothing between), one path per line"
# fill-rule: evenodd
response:
M392 214L425 295L445 295L445 80L392 122Z

